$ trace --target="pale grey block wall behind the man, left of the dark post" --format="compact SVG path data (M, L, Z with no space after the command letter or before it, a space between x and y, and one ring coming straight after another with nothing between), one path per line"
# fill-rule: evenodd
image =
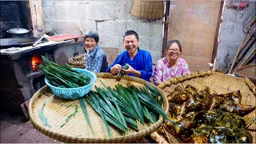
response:
M98 32L99 46L117 49L118 53L125 50L123 34L135 30L139 47L150 51L153 61L157 61L162 57L162 20L135 18L130 14L131 5L132 0L42 1L43 19L46 31L54 34L82 34L74 24L78 20L85 31Z

